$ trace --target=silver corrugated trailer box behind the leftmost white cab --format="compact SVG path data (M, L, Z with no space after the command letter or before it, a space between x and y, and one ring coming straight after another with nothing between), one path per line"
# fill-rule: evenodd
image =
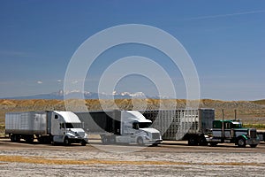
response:
M5 114L5 134L47 135L47 112L8 112Z

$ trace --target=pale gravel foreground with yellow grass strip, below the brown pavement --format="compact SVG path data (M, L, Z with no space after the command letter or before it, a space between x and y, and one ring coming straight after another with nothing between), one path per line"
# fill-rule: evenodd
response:
M87 145L88 147L89 145ZM172 148L171 148L172 149ZM34 158L25 163L3 158ZM42 160L59 160L42 164ZM68 161L87 164L71 165ZM61 162L65 162L61 165ZM264 176L263 152L181 152L143 150L110 153L102 150L4 149L0 176Z

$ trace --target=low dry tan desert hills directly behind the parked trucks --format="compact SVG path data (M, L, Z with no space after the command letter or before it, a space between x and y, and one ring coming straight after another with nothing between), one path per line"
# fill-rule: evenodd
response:
M175 99L117 99L115 103L111 100L67 100L67 110L77 110L79 105L87 106L90 111L104 109L112 110L119 108L121 110L142 110L142 109L172 109L174 105L177 108L186 108L186 100ZM116 107L117 106L117 107ZM214 108L216 110L216 119L222 118L224 110L225 119L234 118L234 110L237 110L238 119L249 124L265 124L265 100L259 101L220 101L211 99L201 99L199 107ZM26 112L26 111L44 111L44 110L65 110L64 100L10 100L0 99L0 125L4 124L5 112Z

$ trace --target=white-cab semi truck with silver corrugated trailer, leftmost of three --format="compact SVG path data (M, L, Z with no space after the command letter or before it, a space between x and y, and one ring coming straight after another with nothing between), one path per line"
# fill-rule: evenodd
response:
M37 138L42 143L62 142L64 145L78 142L86 145L87 133L82 122L73 112L7 112L5 114L5 134L11 142L34 142Z

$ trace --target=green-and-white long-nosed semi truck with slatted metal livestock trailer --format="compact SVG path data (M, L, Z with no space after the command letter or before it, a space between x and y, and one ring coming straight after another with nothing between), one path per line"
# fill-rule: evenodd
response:
M243 128L241 122L215 120L215 110L208 108L142 111L162 132L163 140L187 140L188 145L235 143L239 147L260 143L256 129Z

